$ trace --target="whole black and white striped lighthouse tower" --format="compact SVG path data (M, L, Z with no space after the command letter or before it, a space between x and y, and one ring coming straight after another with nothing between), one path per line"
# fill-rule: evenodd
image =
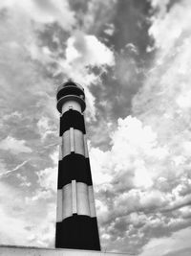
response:
M83 112L84 89L74 81L57 90L60 157L55 247L100 250Z

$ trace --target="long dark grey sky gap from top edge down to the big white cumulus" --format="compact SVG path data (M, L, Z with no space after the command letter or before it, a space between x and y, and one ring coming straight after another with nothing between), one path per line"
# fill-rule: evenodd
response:
M93 124L96 128L102 125L102 120L115 124L118 117L131 114L132 99L143 85L153 58L153 53L146 51L148 45L152 45L148 35L149 15L148 1L117 1L110 19L114 34L104 34L104 23L96 32L103 39L108 36L105 44L115 50L116 57L115 67L108 68L101 76L101 83L90 88L96 97L97 122ZM106 134L102 144L109 141ZM101 143L94 142L101 147Z

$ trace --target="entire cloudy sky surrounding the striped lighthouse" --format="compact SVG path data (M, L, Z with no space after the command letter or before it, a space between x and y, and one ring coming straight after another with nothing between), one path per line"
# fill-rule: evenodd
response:
M0 1L0 244L53 247L59 113L86 127L103 251L191 254L191 1Z

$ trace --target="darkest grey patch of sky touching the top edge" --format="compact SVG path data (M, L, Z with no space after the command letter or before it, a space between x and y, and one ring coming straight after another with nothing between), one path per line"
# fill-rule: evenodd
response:
M151 40L147 34L150 26L149 12L148 1L117 1L116 13L112 20L115 33L110 37L110 45L114 45L117 52L132 43L142 57L146 55L146 48Z

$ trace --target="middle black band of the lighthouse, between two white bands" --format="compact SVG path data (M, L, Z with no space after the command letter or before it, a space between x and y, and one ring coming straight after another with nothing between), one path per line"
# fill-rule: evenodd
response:
M72 180L89 186L93 184L89 159L79 153L70 153L58 163L57 188L62 189Z

